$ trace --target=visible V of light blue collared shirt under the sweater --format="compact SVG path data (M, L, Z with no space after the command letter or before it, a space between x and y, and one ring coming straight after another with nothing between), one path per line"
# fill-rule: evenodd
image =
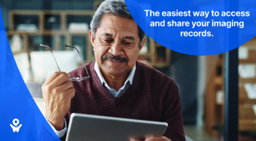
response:
M125 84L118 91L116 91L112 87L108 86L107 82L105 81L104 77L102 76L102 73L100 72L99 65L96 61L94 63L94 70L96 71L97 76L99 77L102 85L104 85L106 87L107 91L110 92L110 94L114 95L115 97L119 97L131 86L131 84L133 84L133 78L135 76L136 64L135 64L135 66L133 66L133 69L131 69L131 72L130 72L128 78L126 79Z

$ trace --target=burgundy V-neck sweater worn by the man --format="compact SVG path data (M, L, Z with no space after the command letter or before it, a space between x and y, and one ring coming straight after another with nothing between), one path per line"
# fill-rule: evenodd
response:
M115 97L100 83L94 62L87 63L86 68L90 78L73 82L76 94L65 117L67 123L71 113L163 121L169 125L164 136L172 141L185 141L179 89L172 79L136 62L133 84L120 97ZM80 66L69 75L84 77L87 73L84 66ZM61 140L64 138L66 135Z

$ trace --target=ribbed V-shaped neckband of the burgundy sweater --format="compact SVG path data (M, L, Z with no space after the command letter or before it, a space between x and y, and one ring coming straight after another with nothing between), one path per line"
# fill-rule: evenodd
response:
M115 105L118 105L118 103L120 103L122 100L125 100L125 98L127 97L127 95L133 95L134 93L132 93L133 89L136 89L136 85L133 83L123 94L121 94L119 97L115 97L114 95L112 95L110 92L107 91L107 88L104 87L104 85L100 82L99 77L97 76L97 73L94 70L94 62L91 63L90 65L90 70L92 73L92 76L95 79L95 83L96 86L99 86L99 90L102 94L107 95L108 99L110 99L113 103L115 103ZM139 73L139 63L136 62L136 71L135 71L135 76L133 78L133 81L138 81L138 73Z

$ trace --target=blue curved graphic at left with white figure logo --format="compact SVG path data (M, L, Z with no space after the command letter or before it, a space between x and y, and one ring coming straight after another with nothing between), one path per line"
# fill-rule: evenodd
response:
M0 140L60 140L20 75L6 36L1 9L0 47Z

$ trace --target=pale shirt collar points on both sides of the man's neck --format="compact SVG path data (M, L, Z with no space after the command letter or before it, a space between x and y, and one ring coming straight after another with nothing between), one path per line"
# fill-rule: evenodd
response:
M104 77L102 76L102 73L100 72L100 68L99 68L99 65L98 65L97 61L95 61L95 63L94 63L94 70L96 71L97 76L98 76L99 79L100 79L100 82L101 82L102 84L105 84L106 87L110 88L110 87L108 86L107 82L105 81ZM133 66L133 69L131 69L131 72L130 72L128 78L126 79L124 86L125 86L126 83L128 83L128 82L129 82L130 84L133 84L133 78L134 78L134 76L135 76L135 70L136 70L136 63L135 63L135 66Z

